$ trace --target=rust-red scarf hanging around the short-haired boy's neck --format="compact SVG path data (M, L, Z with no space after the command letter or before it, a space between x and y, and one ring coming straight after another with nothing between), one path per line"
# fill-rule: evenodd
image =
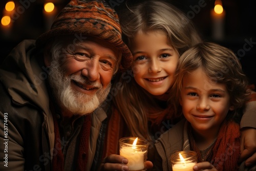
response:
M217 170L238 170L240 157L240 126L234 121L224 121L219 130L217 140L206 153L205 160ZM203 159L188 126L188 137L191 150L198 154L198 162Z

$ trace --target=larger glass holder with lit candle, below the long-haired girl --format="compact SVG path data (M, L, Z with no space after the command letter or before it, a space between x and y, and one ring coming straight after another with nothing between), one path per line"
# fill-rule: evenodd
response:
M136 137L124 137L119 140L120 156L128 159L130 170L146 170L147 149L149 143Z

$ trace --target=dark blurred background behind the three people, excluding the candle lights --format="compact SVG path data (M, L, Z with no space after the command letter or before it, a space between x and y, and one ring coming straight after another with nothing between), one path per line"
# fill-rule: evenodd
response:
M8 30L0 28L1 60L8 55L11 49L23 39L36 39L41 33L47 31L46 21L42 13L45 2L53 2L56 12L65 7L67 0L18 0L15 1L17 15L15 22ZM119 13L126 4L141 1L106 0ZM210 10L214 8L214 0L167 0L181 9L185 14L195 15L190 18L195 23L199 33L206 41L214 41L234 51L241 61L243 70L250 83L256 85L256 1L253 0L223 0L225 15L225 37L222 40L212 38L212 19ZM0 1L0 16L4 13L4 6L8 1ZM206 4L199 7L200 2ZM18 7L18 8L17 8ZM250 44L248 44L250 42ZM1 62L0 60L0 62Z

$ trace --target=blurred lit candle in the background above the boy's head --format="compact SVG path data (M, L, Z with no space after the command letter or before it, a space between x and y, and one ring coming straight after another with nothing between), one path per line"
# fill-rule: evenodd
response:
M222 40L224 38L225 10L220 0L215 1L215 7L211 10L212 38Z

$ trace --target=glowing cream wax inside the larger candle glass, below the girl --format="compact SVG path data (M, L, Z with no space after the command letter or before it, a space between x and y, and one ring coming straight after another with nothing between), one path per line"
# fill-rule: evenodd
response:
M142 170L144 166L144 153L138 152L134 147L122 147L120 149L120 156L128 159L128 166L130 170Z

